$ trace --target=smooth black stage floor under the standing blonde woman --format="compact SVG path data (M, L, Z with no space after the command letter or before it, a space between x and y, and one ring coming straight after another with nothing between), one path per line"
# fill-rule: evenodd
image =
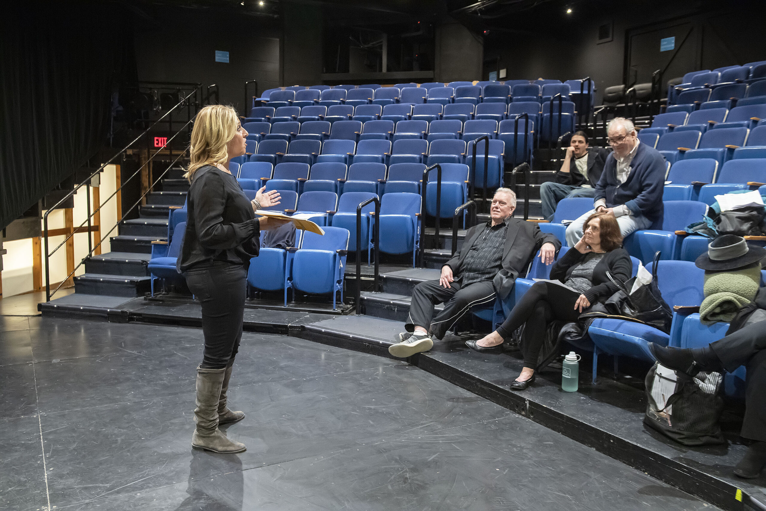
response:
M2 316L0 335L0 509L718 509L403 361L245 333L247 452L218 455L190 446L201 330Z

